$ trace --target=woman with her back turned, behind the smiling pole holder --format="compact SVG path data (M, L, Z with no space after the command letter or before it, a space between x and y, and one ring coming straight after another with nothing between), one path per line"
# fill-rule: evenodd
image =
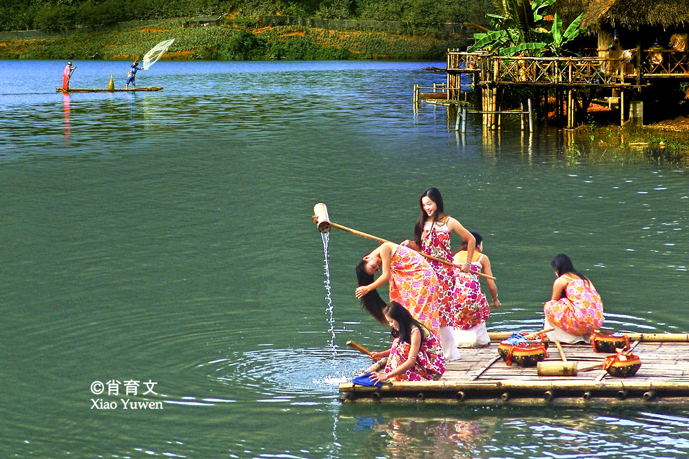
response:
M476 239L476 249L469 262L471 273L464 273L455 268L455 341L460 348L484 348L491 343L491 338L486 330L486 320L491 314L491 307L486 299L486 294L481 290L479 276L476 273L491 273L491 260L483 253L483 237L479 233L471 231ZM460 250L455 253L455 264L466 263L466 241L462 241ZM493 308L500 306L497 299L497 286L493 279L488 281L488 290L491 293Z

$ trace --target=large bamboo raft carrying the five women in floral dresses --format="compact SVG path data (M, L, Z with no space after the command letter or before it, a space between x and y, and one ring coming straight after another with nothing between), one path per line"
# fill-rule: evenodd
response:
M342 383L340 401L417 401L467 405L689 405L689 334L626 333L641 359L634 376L616 378L598 368L576 376L538 376L537 367L511 366L497 352L510 333L490 333L482 349L460 349L462 359L447 364L438 381L393 382L380 389ZM552 344L552 343L551 343ZM588 344L562 345L567 362L581 367L609 354ZM555 345L544 362L562 362Z

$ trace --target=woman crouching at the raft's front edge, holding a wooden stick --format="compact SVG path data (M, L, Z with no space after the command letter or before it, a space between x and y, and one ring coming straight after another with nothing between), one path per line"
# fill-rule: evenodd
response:
M387 357L384 371L371 374L371 381L440 379L445 372L445 358L438 337L411 317L397 301L391 301L383 313L390 323L393 341L389 350L371 352L371 358L376 361Z

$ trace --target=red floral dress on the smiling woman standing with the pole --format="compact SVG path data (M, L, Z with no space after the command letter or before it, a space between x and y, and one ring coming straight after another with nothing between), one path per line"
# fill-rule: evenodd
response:
M424 231L421 233L421 251L426 255L432 257L452 261L452 252L450 250L451 231L447 227L448 215L439 220L429 224L426 222ZM453 267L443 264L440 261L429 260L435 274L438 276L438 316L440 318L441 327L453 327L455 316L455 299L453 290L455 286L455 279L453 277Z

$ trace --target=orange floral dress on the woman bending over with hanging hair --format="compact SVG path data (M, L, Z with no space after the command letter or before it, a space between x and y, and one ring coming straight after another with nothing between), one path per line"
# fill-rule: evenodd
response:
M390 258L390 301L397 301L411 317L431 333L440 336L438 317L438 277L428 261L416 250L385 242Z

